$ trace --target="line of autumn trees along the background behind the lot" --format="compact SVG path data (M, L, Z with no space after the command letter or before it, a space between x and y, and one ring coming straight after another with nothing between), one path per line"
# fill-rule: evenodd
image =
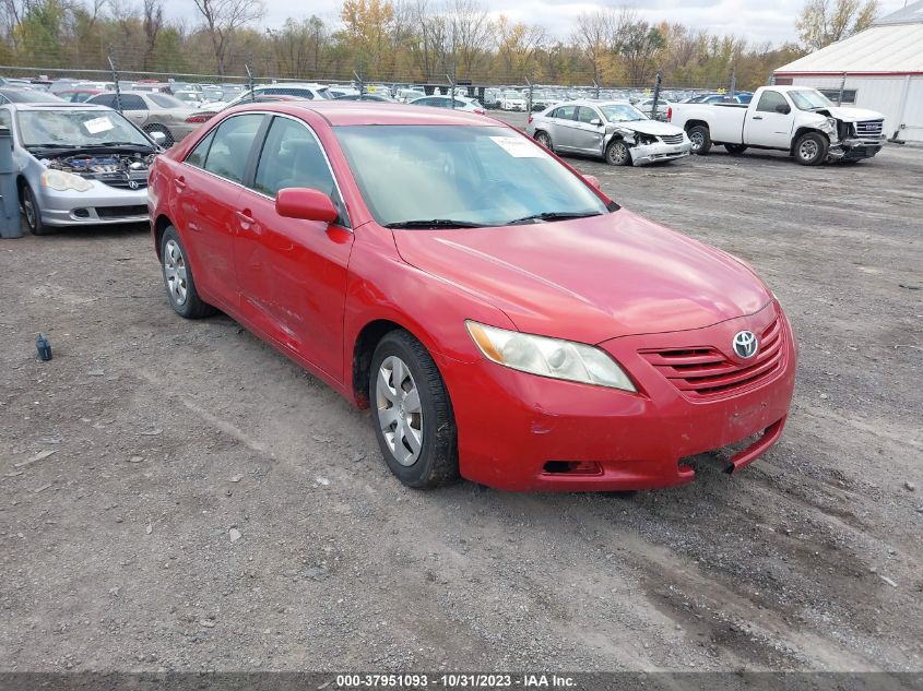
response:
M482 0L343 0L336 20L261 21L261 0L191 0L197 19L164 0L0 0L0 64L259 78L648 86L766 83L806 49L861 31L874 0L808 0L802 44L772 46L678 23L649 23L627 7L580 14L569 36L488 12ZM836 34L836 37L835 37Z

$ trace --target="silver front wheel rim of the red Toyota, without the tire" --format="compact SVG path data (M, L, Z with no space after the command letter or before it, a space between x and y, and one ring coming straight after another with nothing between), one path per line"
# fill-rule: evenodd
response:
M423 449L423 407L413 374L401 358L381 362L375 386L378 424L394 460L411 466Z

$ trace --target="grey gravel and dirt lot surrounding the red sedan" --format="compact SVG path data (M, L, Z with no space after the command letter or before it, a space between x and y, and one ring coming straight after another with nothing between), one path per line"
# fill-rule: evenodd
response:
M2 241L0 668L923 669L923 150L577 165L774 287L778 446L629 499L407 490L368 414L176 317L143 229Z

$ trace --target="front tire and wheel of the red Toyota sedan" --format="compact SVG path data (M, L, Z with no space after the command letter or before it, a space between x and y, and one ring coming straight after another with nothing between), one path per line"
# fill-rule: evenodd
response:
M458 433L449 392L436 362L406 331L392 331L375 348L369 402L384 463L415 489L459 478Z

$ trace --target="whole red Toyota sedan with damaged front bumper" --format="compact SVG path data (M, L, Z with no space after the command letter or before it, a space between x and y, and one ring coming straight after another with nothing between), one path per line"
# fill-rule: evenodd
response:
M668 487L782 431L795 339L753 270L483 116L241 106L150 181L173 308L222 310L370 406L407 486Z

